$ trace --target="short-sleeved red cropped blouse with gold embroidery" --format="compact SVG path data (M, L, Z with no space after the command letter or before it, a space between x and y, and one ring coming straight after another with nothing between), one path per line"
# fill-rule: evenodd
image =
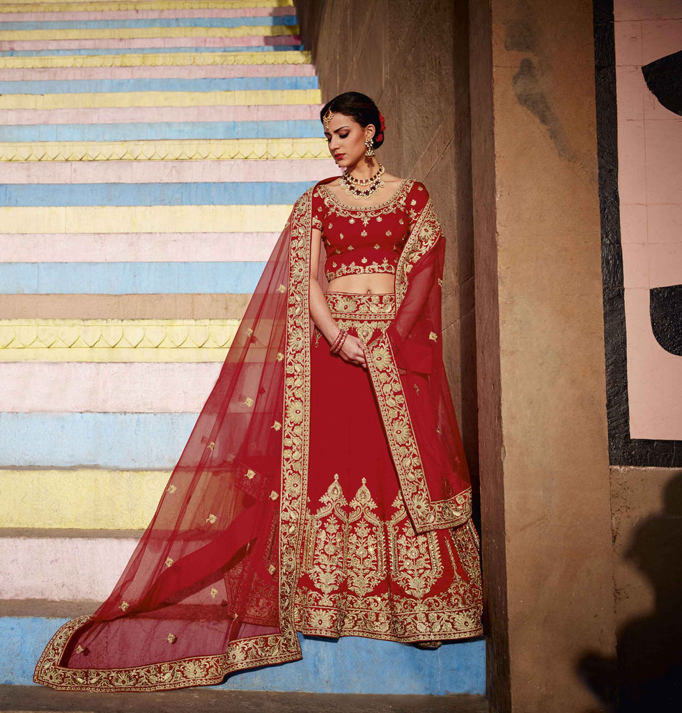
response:
M327 280L380 272L395 275L409 231L427 200L424 184L408 179L390 200L368 207L346 205L327 186L317 186L312 193L312 227L322 231Z

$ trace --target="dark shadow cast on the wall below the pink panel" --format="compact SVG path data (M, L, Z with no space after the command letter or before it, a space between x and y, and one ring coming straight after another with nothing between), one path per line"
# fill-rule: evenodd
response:
M682 702L682 472L666 486L663 511L635 530L626 558L653 585L653 612L619 630L617 660L588 653L578 670L618 713L679 710Z

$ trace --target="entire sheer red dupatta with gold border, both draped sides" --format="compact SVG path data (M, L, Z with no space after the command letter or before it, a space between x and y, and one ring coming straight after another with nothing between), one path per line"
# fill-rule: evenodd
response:
M312 190L293 207L116 587L92 616L56 632L36 665L37 683L163 690L216 684L231 672L301 657L292 622L310 434ZM399 261L397 318L386 337L367 345L418 531L469 516L440 352L443 250L429 201ZM324 271L318 274L324 283Z

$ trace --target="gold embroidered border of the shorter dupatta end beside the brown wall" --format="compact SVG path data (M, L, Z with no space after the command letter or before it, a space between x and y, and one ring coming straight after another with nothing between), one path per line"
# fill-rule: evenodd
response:
M427 255L441 237L441 229L431 199L427 201L412 228L402 250L396 269L396 310L409 287L409 272ZM395 355L386 334L365 345L368 354L367 368L372 378L375 396L384 423L386 438L405 506L417 532L452 528L461 525L471 516L471 488L453 498L442 501L429 500L429 488L424 475L419 444L414 435Z

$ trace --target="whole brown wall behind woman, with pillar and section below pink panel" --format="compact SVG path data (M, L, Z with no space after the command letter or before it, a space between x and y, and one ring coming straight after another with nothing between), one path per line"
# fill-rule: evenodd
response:
M427 183L449 237L492 709L606 710L616 636L628 678L665 634L682 476L609 466L591 1L296 5L325 99L375 98L382 162Z

